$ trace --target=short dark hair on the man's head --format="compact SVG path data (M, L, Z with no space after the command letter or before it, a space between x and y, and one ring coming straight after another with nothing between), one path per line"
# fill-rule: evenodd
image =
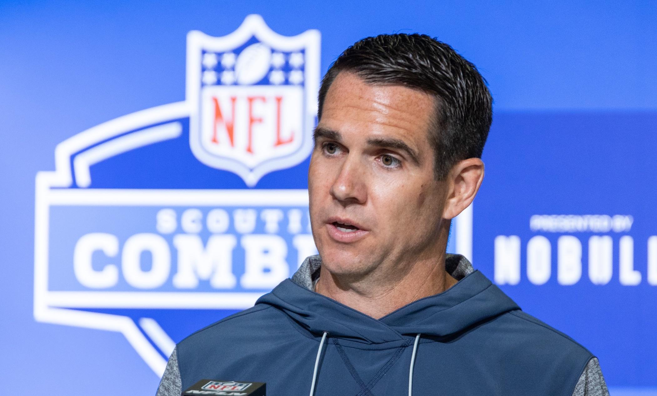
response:
M436 117L429 141L438 180L457 162L482 156L493 121L493 98L477 68L449 45L417 33L357 41L338 56L322 79L320 119L328 89L341 71L355 73L366 83L403 85L434 95Z

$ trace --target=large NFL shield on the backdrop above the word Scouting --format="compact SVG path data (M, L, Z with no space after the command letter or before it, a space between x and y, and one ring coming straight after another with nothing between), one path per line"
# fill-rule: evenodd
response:
M233 33L187 36L190 146L202 163L254 186L312 151L319 89L319 31L294 37L250 15Z

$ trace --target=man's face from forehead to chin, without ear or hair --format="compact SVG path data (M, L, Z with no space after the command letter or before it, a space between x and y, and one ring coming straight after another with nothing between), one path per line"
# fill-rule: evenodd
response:
M419 90L345 72L333 81L308 172L313 237L330 273L404 271L441 257L434 111L434 98Z

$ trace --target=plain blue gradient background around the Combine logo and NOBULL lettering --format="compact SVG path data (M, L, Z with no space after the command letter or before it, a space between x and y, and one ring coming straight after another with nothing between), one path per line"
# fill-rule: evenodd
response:
M524 249L532 214L632 214L641 285L618 285L614 237L609 285L591 285L584 268L572 287L554 275L535 287L523 271L503 288L599 356L612 396L657 395L657 287L645 281L657 234L657 3L387 0L0 1L0 393L38 379L52 395L154 394L159 379L122 334L34 321L34 176L81 130L183 100L187 32L226 35L252 13L283 35L320 30L322 72L357 39L397 31L436 35L476 64L495 121L474 265L492 278L494 237L520 235ZM269 174L258 188L289 180Z

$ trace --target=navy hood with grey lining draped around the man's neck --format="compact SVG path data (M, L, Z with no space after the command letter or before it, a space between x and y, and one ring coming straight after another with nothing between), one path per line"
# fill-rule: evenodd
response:
M484 274L459 255L448 255L446 269L458 283L440 294L421 298L374 319L312 290L321 260L311 256L292 279L286 279L257 304L283 311L311 333L365 344L403 340L404 336L449 336L475 323L520 309ZM301 274L301 275L300 275ZM304 279L306 278L306 279Z

